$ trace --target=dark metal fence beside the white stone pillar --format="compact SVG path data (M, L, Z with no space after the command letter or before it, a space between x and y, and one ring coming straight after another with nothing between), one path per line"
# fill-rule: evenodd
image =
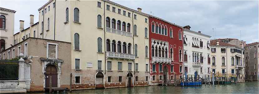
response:
M0 80L18 80L18 60L0 60Z

